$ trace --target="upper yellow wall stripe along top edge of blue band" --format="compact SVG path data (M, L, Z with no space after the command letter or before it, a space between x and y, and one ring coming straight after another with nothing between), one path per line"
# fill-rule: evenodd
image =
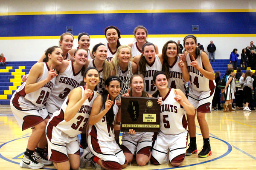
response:
M119 13L184 13L184 12L256 12L256 9L148 9L148 10L100 10L100 11L35 11L1 12L4 15L52 15L52 14L119 14Z

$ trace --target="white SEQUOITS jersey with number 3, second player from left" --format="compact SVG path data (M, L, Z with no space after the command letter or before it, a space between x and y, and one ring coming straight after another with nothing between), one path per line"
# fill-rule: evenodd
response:
M82 80L81 71L75 74L73 62L70 61L66 70L56 77L54 88L46 103L47 111L49 113L58 111L70 91L79 87Z

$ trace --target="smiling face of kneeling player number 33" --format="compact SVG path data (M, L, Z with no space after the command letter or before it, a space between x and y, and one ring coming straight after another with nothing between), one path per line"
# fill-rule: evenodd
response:
M90 89L94 89L99 84L99 72L96 69L88 70L84 82L88 84Z

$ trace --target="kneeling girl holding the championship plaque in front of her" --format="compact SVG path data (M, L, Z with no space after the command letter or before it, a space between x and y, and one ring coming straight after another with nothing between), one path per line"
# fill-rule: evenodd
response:
M152 97L150 94L143 91L144 81L143 76L135 74L130 81L131 90L123 96L133 97ZM160 99L161 101L161 99ZM153 132L135 132L130 129L129 132L122 134L122 150L125 154L127 163L131 162L134 154L136 155L136 162L140 166L148 163L151 157L151 146L153 142Z

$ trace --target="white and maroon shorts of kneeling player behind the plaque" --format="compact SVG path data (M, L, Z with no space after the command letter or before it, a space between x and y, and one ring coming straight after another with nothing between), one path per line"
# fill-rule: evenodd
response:
M122 150L124 153L150 155L153 142L153 132L136 132L136 134L123 133Z

